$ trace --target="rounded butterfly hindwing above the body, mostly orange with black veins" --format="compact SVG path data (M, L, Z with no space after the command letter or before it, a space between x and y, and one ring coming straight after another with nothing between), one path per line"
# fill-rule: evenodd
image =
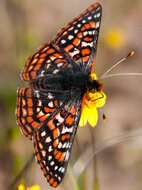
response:
M56 74L66 66L69 66L68 61L48 42L29 57L21 76L29 81L46 74Z

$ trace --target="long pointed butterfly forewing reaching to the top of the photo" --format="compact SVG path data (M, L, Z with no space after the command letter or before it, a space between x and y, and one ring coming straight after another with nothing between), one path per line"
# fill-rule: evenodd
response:
M54 44L76 62L89 63L87 68L91 69L91 72L94 67L101 15L101 5L93 4L63 28L54 40Z

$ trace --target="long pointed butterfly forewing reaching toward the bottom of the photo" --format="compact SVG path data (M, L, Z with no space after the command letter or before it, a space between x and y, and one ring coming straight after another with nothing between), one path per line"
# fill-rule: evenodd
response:
M80 105L78 102L70 109L66 105L34 133L36 157L52 187L58 186L65 175L80 118Z

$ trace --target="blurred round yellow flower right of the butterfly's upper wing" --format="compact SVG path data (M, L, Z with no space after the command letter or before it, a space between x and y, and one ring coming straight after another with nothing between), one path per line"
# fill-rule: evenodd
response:
M121 28L112 28L106 33L105 43L109 48L119 49L126 43L126 36Z

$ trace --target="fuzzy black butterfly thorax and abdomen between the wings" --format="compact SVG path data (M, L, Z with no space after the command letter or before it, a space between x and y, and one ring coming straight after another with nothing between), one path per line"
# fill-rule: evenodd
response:
M76 90L86 90L86 85L89 80L89 75L87 73L61 73L53 76L39 77L31 81L31 86L35 89L44 90L62 90L71 91Z

